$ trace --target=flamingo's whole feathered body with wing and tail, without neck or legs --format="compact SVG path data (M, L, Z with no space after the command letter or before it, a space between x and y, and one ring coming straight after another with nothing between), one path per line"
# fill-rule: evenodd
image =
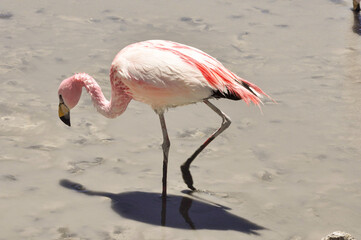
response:
M189 104L212 96L259 105L260 97L267 96L203 51L170 41L129 45L115 57L112 68L135 100L153 108Z

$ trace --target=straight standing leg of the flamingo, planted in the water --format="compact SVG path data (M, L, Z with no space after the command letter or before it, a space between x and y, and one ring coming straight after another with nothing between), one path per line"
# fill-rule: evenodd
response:
M159 120L160 125L162 127L162 133L163 133L163 178L162 178L162 198L165 199L167 197L167 169L168 169L168 154L169 154L169 147L170 147L170 141L168 137L168 131L167 126L165 124L164 120L164 114L159 114Z

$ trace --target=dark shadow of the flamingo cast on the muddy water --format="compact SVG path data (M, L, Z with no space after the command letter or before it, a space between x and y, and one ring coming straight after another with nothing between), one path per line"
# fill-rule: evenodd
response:
M227 207L186 196L168 195L163 200L159 193L97 192L69 180L61 180L60 185L86 195L108 197L112 200L112 209L119 215L148 224L181 229L234 230L255 235L259 235L258 230L265 229L227 212Z

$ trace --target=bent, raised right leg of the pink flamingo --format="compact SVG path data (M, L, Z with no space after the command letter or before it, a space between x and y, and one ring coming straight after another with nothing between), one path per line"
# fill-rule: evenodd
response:
M213 111L215 111L221 118L222 118L222 124L221 126L215 131L193 154L190 156L187 161L185 161L181 165L181 171L184 182L187 184L188 188L191 190L196 190L193 186L193 178L191 175L191 172L189 171L189 167L193 160L198 156L202 150L207 147L207 145L212 142L219 134L221 134L224 130L226 130L229 125L231 125L231 119L223 113L221 110L219 110L216 106L214 106L212 103L210 103L208 100L203 100L203 102L210 107Z

